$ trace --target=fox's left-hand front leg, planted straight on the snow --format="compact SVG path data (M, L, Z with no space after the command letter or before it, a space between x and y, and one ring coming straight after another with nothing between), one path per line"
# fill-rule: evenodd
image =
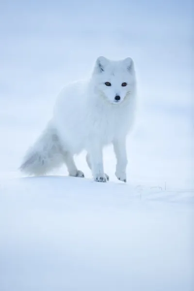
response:
M97 182L106 182L107 178L104 174L102 146L97 142L93 142L88 147L88 155L90 157L91 170L94 180Z

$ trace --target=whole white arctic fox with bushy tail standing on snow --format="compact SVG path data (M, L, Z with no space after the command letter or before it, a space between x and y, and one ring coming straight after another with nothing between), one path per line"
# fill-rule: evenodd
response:
M135 100L132 59L98 57L89 80L73 82L59 94L51 120L27 152L20 170L45 175L65 163L70 176L84 177L73 156L86 150L94 180L106 182L109 177L104 173L102 150L113 143L115 175L126 182L126 136L133 122Z

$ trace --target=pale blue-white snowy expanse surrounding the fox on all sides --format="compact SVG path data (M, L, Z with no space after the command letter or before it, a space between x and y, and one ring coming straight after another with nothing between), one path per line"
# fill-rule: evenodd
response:
M47 2L46 10L44 1L2 4L0 291L193 290L189 2L174 14L172 1L153 3L141 1L140 9L110 2L107 18L98 5L88 2L82 11L77 2L79 27L73 3ZM133 27L123 20L129 10ZM67 177L65 166L49 177L22 177L21 158L51 116L55 96L65 82L85 77L98 55L131 56L136 64L128 183L114 176L111 146L104 150L108 183L93 182L85 153L76 157L84 179Z

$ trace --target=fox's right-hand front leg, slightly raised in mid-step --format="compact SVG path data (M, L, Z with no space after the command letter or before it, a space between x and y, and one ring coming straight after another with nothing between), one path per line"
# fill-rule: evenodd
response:
M114 152L116 156L116 177L123 181L127 182L126 177L126 168L128 164L127 160L127 151L126 151L126 137L120 137L113 141Z

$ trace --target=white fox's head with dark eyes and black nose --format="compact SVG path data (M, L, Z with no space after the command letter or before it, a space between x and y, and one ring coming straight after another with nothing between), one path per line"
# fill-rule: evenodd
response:
M111 61L98 57L93 71L95 91L112 104L129 98L135 87L135 71L131 58Z

